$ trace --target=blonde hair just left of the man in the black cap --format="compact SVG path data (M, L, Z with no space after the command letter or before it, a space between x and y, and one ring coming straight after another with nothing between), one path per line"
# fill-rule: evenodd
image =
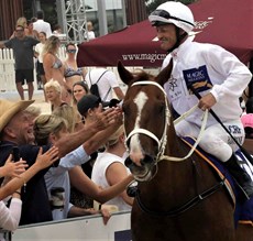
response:
M67 122L68 132L74 132L77 122L77 111L73 107L68 105L57 107L54 109L53 114L64 118Z

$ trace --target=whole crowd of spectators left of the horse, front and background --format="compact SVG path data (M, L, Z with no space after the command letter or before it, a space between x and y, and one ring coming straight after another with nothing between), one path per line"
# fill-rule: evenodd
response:
M91 26L89 30L88 37L94 39ZM112 210L124 208L119 208L117 201L94 208L94 202L105 204L120 197L133 180L127 172L105 187L91 180L98 152L106 152L103 145L108 139L122 129L121 109L117 105L105 109L105 101L112 98L113 91L119 101L124 94L116 75L107 70L109 77L105 75L99 88L101 96L108 92L108 98L103 101L94 96L89 89L92 80L87 81L89 72L77 66L76 44L68 43L67 57L61 59L62 43L56 31L52 32L38 11L30 21L20 18L10 40L0 43L2 48L13 48L21 98L16 102L0 99L0 228L10 231L22 224L95 213L101 213L106 224ZM50 114L33 106L34 57L45 101L51 105ZM106 70L96 69L92 78ZM25 81L29 100L24 96ZM84 99L86 96L88 101ZM89 97L96 98L96 105L89 102ZM78 108L87 112L79 112ZM111 161L123 166L122 157L120 152Z

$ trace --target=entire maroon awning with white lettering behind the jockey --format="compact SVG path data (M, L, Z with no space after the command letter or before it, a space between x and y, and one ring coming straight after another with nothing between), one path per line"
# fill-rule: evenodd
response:
M219 44L243 63L253 56L253 1L200 0L189 6L196 21L195 41ZM166 55L150 22L143 21L122 31L79 45L78 66L160 67Z

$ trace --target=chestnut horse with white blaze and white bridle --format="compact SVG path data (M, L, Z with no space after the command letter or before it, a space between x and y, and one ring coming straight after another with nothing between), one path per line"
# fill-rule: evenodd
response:
M235 229L231 198L207 162L196 153L182 162L169 161L186 156L190 150L175 133L162 88L172 64L156 77L144 72L132 74L121 63L118 72L128 85L122 105L130 153L125 165L138 180L132 239L252 241L251 226Z

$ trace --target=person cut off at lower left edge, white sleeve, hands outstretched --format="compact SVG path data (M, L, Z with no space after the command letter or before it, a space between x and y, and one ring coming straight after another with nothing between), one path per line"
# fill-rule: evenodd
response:
M21 217L21 190L20 188L25 182L29 182L37 172L50 166L58 160L58 150L52 147L46 153L42 155L42 149L37 155L36 162L25 171L28 164L25 161L20 160L19 162L12 162L12 155L9 156L4 166L0 167L0 177L6 177L3 180L3 186L0 188L0 228L7 231L14 231L19 227ZM16 177L16 178L13 178ZM8 178L12 178L8 182ZM8 183L7 183L8 182ZM6 206L6 200L9 199L9 195L12 194L12 199L10 207ZM0 241L4 240L4 234L0 233Z

